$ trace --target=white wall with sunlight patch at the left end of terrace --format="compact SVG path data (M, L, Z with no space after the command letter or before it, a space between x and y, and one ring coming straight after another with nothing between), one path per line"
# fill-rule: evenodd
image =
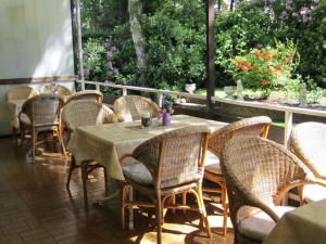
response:
M11 131L4 94L15 86L1 79L73 75L70 0L0 0L0 136Z

